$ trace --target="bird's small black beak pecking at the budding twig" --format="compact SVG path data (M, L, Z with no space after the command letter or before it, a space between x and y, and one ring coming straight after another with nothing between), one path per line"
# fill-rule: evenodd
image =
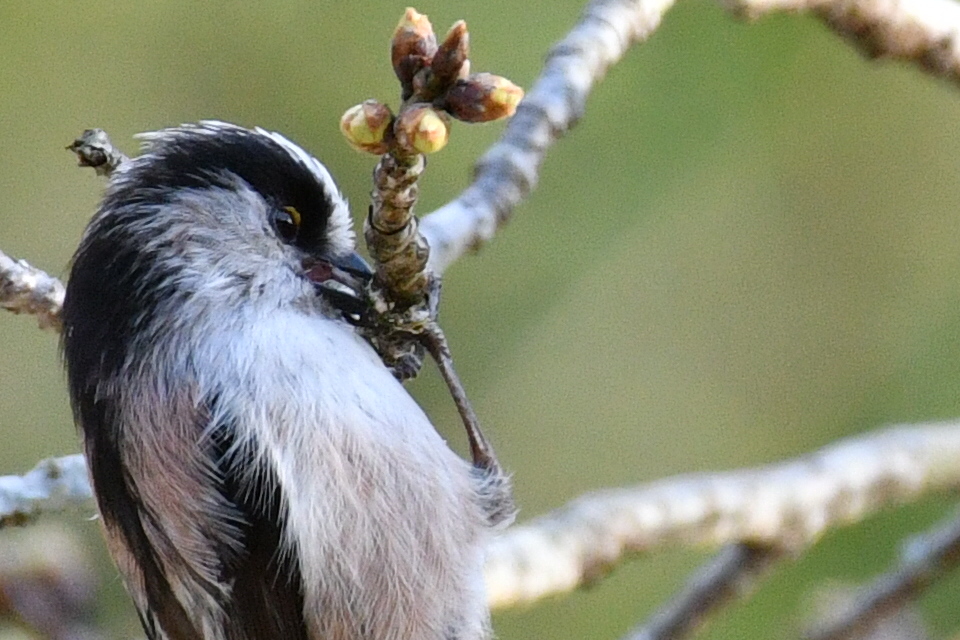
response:
M343 256L312 257L303 263L305 275L331 305L355 325L367 324L371 304L367 285L373 270L356 251Z

